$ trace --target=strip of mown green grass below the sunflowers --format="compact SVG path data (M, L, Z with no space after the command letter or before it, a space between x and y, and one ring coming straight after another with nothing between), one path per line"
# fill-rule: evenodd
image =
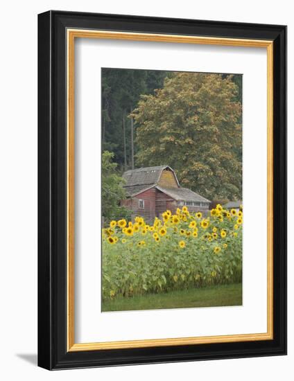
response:
M216 285L204 288L171 291L162 294L147 294L103 302L102 311L157 310L159 308L216 307L241 305L241 283Z

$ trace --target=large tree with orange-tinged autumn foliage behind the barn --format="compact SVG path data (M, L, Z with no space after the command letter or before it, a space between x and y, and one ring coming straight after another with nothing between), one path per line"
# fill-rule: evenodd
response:
M141 96L136 166L168 164L182 186L209 200L241 199L241 92L236 76L174 73Z

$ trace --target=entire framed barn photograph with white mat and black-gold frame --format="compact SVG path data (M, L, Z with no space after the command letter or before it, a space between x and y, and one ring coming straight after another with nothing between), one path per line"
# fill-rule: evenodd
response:
M38 17L38 364L286 354L286 26Z

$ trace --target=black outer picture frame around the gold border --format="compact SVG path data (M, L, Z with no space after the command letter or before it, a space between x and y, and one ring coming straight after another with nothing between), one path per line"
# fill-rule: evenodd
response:
M67 28L273 41L272 340L67 351ZM38 365L45 369L286 354L286 26L103 15L38 15Z

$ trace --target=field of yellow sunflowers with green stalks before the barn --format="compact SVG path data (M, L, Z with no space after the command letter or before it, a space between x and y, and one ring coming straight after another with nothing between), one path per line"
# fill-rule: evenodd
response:
M242 210L220 204L207 217L183 206L153 224L112 220L102 231L103 300L241 282L242 224Z

